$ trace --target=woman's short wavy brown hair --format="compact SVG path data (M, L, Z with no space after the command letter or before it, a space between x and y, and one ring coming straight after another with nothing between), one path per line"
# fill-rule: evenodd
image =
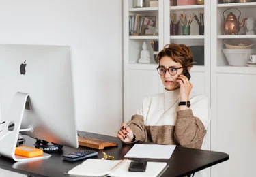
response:
M176 63L182 64L184 69L193 67L193 57L191 50L185 44L171 43L165 45L164 49L162 49L156 56L156 60L158 61L159 65L160 60L165 56L171 57Z

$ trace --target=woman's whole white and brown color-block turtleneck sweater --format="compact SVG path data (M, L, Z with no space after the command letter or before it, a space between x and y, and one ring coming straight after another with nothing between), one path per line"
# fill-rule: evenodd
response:
M178 110L180 88L145 97L130 125L136 141L201 148L210 123L208 98L190 93L189 99L190 109Z

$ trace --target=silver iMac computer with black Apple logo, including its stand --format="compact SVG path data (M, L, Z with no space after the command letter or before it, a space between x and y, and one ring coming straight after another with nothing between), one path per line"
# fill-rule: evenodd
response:
M69 46L0 44L0 81L0 155L29 160L14 155L19 133L78 148Z

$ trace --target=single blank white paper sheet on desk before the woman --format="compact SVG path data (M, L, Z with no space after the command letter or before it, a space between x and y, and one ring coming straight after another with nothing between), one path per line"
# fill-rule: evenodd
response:
M170 159L175 145L135 144L124 157Z

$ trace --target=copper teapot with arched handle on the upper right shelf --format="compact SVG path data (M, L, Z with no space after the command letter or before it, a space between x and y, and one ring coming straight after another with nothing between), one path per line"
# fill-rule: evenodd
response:
M227 10L234 8L230 7ZM234 8L238 10L237 8ZM225 10L226 11L226 10ZM225 12L224 11L224 12ZM240 10L238 10L240 12ZM241 12L238 16L238 19L236 19L236 16L230 12L229 15L227 15L227 18L225 19L223 12L223 18L224 18L224 35L238 35L238 32L240 31L240 28L244 27L244 21L247 20L247 18L244 18L242 22L239 22L239 17L241 16Z

